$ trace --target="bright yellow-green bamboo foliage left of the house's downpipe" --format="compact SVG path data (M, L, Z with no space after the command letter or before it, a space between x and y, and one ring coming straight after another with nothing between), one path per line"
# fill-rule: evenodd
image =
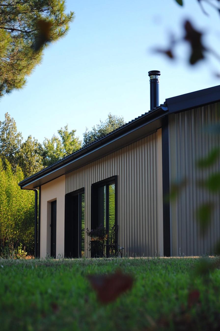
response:
M0 159L0 255L23 249L32 254L34 247L34 192L21 190L17 183L23 179L19 167L12 171L8 161L3 168Z

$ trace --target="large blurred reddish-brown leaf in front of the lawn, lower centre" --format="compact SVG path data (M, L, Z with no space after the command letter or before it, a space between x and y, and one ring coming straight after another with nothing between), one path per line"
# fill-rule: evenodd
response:
M96 291L98 300L103 304L114 301L123 292L131 289L134 282L132 276L121 271L110 275L88 275L87 278Z

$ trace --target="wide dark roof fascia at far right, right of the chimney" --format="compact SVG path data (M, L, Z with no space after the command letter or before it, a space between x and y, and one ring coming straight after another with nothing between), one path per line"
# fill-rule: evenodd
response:
M220 101L220 85L166 99L169 114Z

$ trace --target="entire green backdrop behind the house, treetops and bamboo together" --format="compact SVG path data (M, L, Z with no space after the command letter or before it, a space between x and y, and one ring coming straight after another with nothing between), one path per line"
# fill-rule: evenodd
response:
M109 114L91 130L86 128L83 141L65 125L40 143L31 135L23 140L14 118L5 114L0 121L0 256L34 254L34 192L21 190L18 182L123 124L123 117Z

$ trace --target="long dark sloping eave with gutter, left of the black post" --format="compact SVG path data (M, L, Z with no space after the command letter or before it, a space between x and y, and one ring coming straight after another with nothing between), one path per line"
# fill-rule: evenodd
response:
M167 111L167 108L164 109L164 107L159 106L156 109L153 109L153 111L150 111L148 113L145 113L145 114L139 116L138 118L135 118L134 120L126 123L125 125L119 127L118 129L110 132L108 135L100 138L99 140L95 141L94 143L92 143L92 144L80 149L79 151L71 154L70 156L67 156L66 158L56 162L52 166L49 166L49 167L39 171L38 173L36 173L28 178L25 178L24 180L19 182L18 185L22 188L22 186L26 186L33 180L37 180L45 174L49 174L50 172L53 172L54 170L58 170L60 167L63 167L65 164L68 164L71 161L74 161L75 159L79 158L79 156L81 156L81 157L85 156L88 153L91 153L93 150L97 149L98 147L102 147L106 143L111 142L111 140L113 140L117 137L120 138L120 136L122 134L124 134L126 131L127 131L127 133L129 133L129 131L131 131L135 127L138 127L142 122L145 121L147 124L148 122L152 121L152 119L158 118L158 115L159 115L159 117L164 116L165 111Z

